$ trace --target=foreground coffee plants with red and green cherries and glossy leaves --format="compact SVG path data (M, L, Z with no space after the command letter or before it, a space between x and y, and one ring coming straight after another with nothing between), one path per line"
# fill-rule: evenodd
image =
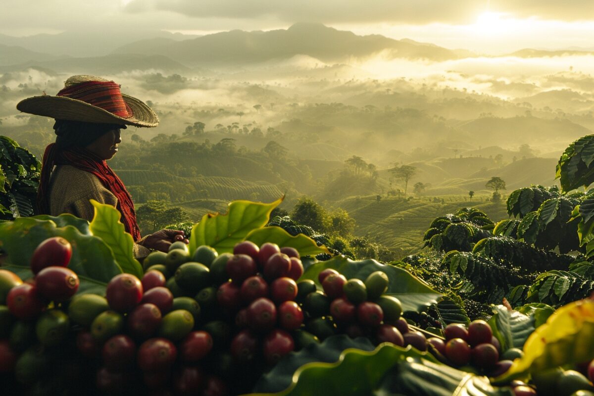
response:
M142 263L109 205L4 221L2 394L594 395L594 192L567 194L590 147L565 151L561 190L510 195L520 220L460 210L388 264L267 226L282 199L233 201Z

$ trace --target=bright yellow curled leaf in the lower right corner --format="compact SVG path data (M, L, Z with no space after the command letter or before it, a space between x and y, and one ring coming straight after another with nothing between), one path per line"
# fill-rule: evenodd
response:
M497 381L527 373L587 362L594 358L594 301L569 303L555 311L524 344L524 356Z

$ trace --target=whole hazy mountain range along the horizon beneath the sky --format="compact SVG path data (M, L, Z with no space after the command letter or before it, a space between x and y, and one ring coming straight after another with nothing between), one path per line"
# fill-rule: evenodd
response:
M509 55L530 58L589 53L591 52L587 50L576 49L523 49ZM241 67L286 61L295 56L306 56L329 65L373 55L381 55L385 59L422 59L435 62L479 56L468 50L447 49L410 39L395 40L380 34L359 36L351 31L337 30L319 23L297 23L287 29L270 31L223 31L206 36L173 34L159 30L64 31L27 37L0 34L0 66L39 66L62 71L64 65L86 67L87 63L80 59L92 58L99 71L117 71L118 62L113 61L126 59L122 61L122 71L127 71L130 58L113 58L122 55L170 58L172 62L165 62L164 58L156 62L157 58L151 58L151 65L160 66L165 72L183 71L184 67ZM10 69L2 68L0 71Z

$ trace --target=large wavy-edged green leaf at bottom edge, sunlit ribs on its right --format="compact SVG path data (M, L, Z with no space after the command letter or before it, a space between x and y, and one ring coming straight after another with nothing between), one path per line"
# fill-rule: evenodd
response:
M512 396L488 378L437 362L431 354L391 343L373 351L347 349L336 363L308 363L293 375L287 395L472 395ZM264 394L251 394L251 396ZM271 394L267 394L270 395Z

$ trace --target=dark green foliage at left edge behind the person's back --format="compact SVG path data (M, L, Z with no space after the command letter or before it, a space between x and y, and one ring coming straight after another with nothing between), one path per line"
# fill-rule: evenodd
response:
M0 220L33 216L41 163L14 140L0 136Z

